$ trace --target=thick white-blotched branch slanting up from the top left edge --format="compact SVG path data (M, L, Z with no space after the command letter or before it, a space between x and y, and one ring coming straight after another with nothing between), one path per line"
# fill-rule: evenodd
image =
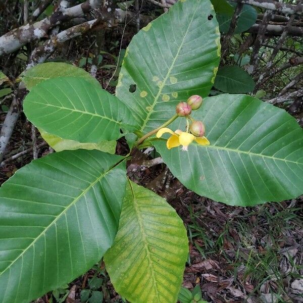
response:
M53 27L75 17L83 17L85 13L100 6L99 0L87 0L86 2L71 8L55 12L33 24L26 24L16 28L0 37L0 56L17 51L24 44L33 40L48 37L48 31Z

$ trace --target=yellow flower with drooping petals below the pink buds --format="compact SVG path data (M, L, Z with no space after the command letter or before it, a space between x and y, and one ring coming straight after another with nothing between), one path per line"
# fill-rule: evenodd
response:
M164 133L170 133L172 136L166 142L166 146L168 149L173 147L177 147L182 145L182 150L188 150L188 145L192 143L192 141L196 141L200 145L210 145L210 141L206 137L195 137L194 135L184 132L180 129L177 129L175 132L170 130L167 127L161 128L156 136L157 138L162 137Z

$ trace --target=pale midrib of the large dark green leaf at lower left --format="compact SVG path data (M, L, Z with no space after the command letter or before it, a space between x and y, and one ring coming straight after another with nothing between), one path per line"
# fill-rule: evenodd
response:
M76 204L76 202L85 194L87 193L87 191L89 189L91 189L97 182L99 182L107 173L109 173L112 169L114 169L116 166L118 166L121 162L123 162L125 160L125 158L121 159L118 163L116 163L115 165L111 166L106 172L104 172L100 177L98 177L94 182L92 182L85 190L83 190L77 197L74 198L74 200L71 202L71 204L65 208L64 211L62 211L54 221L52 221L49 225L47 225L45 227L45 229L34 239L34 241L32 241L22 252L22 254L20 254L9 266L7 266L6 269L4 269L1 273L0 273L0 277L8 270L11 268L11 266L17 262L17 260L22 257L25 252L31 247L33 246L38 239L40 239L41 236L43 236L46 231L53 226L58 220L59 218L61 218L72 206L74 206ZM43 227L44 228L44 227Z

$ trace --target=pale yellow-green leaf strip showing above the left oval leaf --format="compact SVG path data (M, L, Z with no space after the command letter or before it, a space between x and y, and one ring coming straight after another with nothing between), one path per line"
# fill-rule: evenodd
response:
M100 86L99 82L85 70L64 62L47 62L38 64L25 70L20 77L28 90L31 90L35 85L42 81L57 77L84 78L85 80Z

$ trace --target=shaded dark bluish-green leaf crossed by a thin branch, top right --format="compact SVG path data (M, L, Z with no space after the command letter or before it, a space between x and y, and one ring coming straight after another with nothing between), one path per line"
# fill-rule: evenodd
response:
M233 7L236 7L236 3L231 3ZM251 5L244 4L243 9L240 13L240 17L237 22L237 26L234 30L234 34L239 34L256 23L257 20L257 11ZM230 14L218 14L217 19L220 26L221 33L227 33L229 30L230 22L232 15Z

